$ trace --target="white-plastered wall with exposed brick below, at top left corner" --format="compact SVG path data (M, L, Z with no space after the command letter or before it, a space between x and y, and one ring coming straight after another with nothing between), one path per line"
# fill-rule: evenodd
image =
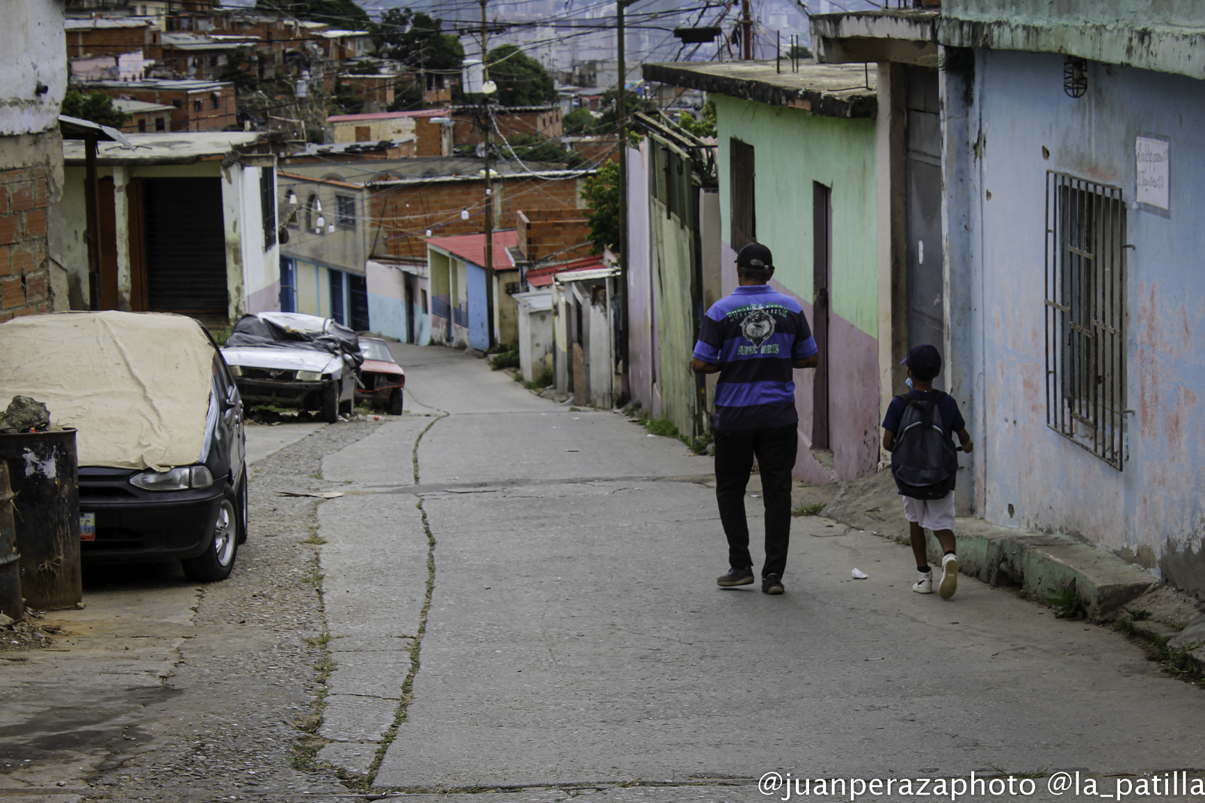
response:
M65 232L48 219L63 188L63 4L10 4L4 24L22 47L0 49L0 321L71 306Z

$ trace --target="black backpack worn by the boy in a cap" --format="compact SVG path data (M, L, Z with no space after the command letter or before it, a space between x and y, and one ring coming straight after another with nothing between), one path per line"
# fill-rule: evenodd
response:
M912 392L897 396L904 402L904 414L892 448L892 476L903 496L940 500L954 490L958 451L937 409L945 395L931 390L929 398Z

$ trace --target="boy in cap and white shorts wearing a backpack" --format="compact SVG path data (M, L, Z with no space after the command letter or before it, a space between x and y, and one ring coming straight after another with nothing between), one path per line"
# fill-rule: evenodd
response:
M929 344L913 346L904 365L912 391L897 396L888 406L883 418L883 449L892 453L892 473L904 496L904 515L909 520L918 574L912 590L933 594L933 568L924 543L928 527L945 551L937 594L948 600L958 590L958 555L954 554L958 455L953 435L958 435L962 451L970 451L975 443L958 402L950 394L933 389L933 380L941 373L941 353Z

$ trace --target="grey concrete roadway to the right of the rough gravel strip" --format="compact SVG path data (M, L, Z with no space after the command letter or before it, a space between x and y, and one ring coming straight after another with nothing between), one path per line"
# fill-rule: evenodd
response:
M1119 634L970 579L948 602L912 594L906 547L818 518L795 520L784 596L721 590L706 457L610 411L537 398L478 360L396 348L411 412L443 415L419 441L417 485L407 457L421 427L387 424L348 448L354 461L334 455L324 470L337 461L328 479L375 490L372 520L388 510L393 531L336 513L364 497L322 512L328 583L362 585L369 571L401 602L357 616L352 633L341 600L357 594L325 597L333 636L371 627L377 646L339 648L323 733L340 738L334 724L351 720L360 732L319 757L374 773L375 787L1200 766L1205 698ZM411 663L427 555L418 502L434 573ZM392 539L387 566L370 566L364 538ZM854 567L870 578L853 580ZM389 639L406 644L382 655ZM381 710L416 668L378 757L370 748L390 718L343 714L340 692Z

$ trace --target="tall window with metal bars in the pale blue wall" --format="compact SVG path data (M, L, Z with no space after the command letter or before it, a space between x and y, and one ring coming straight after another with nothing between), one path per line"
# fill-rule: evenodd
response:
M1125 205L1118 187L1046 175L1046 424L1125 460Z

